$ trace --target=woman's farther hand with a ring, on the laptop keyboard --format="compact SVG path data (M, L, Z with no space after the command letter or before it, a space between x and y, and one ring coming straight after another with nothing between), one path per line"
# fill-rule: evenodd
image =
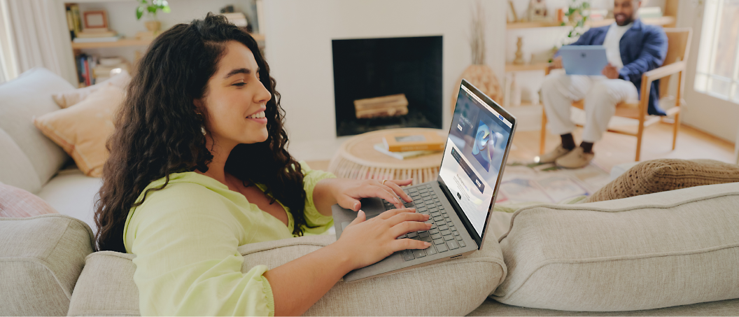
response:
M413 180L349 180L336 179L333 194L336 202L343 208L359 211L362 207L362 198L379 197L395 205L395 208L405 208L401 200L412 202L412 198L403 191L401 186L410 185ZM398 199L400 197L400 199Z

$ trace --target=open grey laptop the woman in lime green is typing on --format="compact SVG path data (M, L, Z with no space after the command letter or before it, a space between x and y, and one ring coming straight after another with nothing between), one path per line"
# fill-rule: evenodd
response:
M374 265L347 273L344 282L443 262L480 250L515 131L514 116L463 80L439 177L403 188L413 199L405 203L406 207L430 214L427 223L432 223L432 228L398 239L420 239L432 246L393 253ZM380 198L364 198L361 206L367 219L395 208ZM332 211L338 239L357 213L339 205L333 205Z

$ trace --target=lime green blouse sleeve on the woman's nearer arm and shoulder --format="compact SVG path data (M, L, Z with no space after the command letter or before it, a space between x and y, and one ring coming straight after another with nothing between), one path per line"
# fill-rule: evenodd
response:
M223 200L200 185L150 194L126 230L141 316L274 316L267 267L241 271L243 235Z

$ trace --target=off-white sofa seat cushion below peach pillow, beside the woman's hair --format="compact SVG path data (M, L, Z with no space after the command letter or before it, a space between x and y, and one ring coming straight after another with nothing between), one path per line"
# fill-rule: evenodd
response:
M41 191L36 194L51 205L59 214L66 214L85 222L95 233L95 195L100 191L103 180L88 177L77 168L59 171Z

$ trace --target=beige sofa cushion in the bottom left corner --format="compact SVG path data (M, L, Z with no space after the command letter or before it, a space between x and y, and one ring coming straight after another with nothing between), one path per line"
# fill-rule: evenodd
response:
M0 307L7 316L65 316L92 231L61 214L0 218Z

